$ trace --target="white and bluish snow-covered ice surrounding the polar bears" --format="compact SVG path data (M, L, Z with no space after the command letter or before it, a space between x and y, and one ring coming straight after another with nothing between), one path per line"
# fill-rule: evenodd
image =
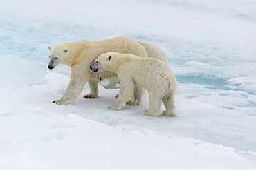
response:
M253 0L0 1L0 169L256 169ZM127 36L165 50L179 117L110 111L118 89L61 98L48 45ZM100 85L106 84L106 81Z

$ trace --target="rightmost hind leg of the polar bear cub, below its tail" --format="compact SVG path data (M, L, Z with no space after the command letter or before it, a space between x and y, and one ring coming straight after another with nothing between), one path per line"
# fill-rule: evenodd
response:
M170 94L163 98L163 105L165 105L166 111L163 111L163 116L176 116L174 94Z

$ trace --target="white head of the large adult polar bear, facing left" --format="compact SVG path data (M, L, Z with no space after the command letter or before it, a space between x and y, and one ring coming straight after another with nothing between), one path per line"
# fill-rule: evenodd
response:
M59 64L64 64L66 57L68 56L68 48L64 44L54 45L52 47L48 46L49 53L49 69L54 69Z

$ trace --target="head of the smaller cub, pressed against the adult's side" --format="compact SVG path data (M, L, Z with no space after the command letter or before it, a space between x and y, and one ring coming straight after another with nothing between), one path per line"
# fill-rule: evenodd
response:
M113 53L107 52L98 56L91 65L93 72L113 71L112 68Z

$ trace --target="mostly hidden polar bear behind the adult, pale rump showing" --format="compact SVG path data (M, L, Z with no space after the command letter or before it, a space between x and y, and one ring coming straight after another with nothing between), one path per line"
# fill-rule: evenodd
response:
M143 45L145 50L147 51L147 56L149 58L156 58L168 63L167 56L165 52L158 46L154 45L153 43L149 43L147 41L138 41L140 45ZM119 83L118 78L109 78L109 83L107 85L102 85L105 89L115 89L116 84Z

